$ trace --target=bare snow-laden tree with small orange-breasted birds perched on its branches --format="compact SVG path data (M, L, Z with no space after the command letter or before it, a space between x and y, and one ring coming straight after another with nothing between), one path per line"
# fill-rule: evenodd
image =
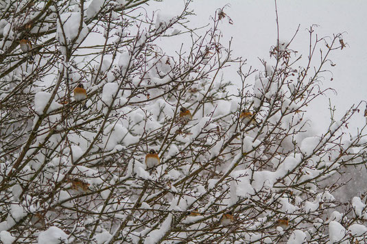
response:
M360 104L331 107L322 135L304 116L342 34L310 27L307 58L278 36L258 70L221 43L225 8L199 36L189 1L171 17L146 2L0 3L0 240L366 241L366 192L338 202L331 180L366 165ZM158 45L180 35L189 48Z

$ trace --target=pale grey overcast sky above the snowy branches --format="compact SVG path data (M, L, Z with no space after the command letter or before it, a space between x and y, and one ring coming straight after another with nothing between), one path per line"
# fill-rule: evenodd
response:
M268 59L270 46L276 43L276 22L275 5L270 0L194 0L191 8L196 12L196 16L191 19L191 26L200 26L209 23L209 16L213 15L217 8L222 8L226 4L225 12L233 20L233 25L227 21L222 21L221 29L224 34L225 44L230 37L233 37L233 56L242 56L248 60L248 64L256 68L261 68L259 58ZM169 14L177 13L182 9L182 1L163 1L150 5L150 9ZM298 25L300 32L293 42L291 49L300 51L307 57L309 33L307 28L312 24L317 24L318 36L332 36L343 33L344 42L348 43L346 49L335 51L331 60L336 66L328 68L333 73L333 81L330 77L324 80L323 88L334 88L338 95L329 93L331 102L337 107L336 114L340 116L353 103L367 100L367 84L364 79L367 75L367 1L341 1L341 0L289 0L278 1L280 38L289 40ZM177 49L180 43L172 45L172 49ZM304 60L305 61L305 60ZM235 73L236 67L227 70L224 75L233 82L238 82ZM250 80L254 82L254 77ZM309 106L309 117L313 119L313 129L318 132L325 132L325 127L329 124L330 113L328 108L328 98L318 99L312 106ZM364 107L363 109L364 110ZM362 111L363 112L363 111ZM362 112L355 117L349 128L355 131L356 127L363 126L365 119ZM317 119L317 121L316 121ZM354 134L354 133L353 133Z

